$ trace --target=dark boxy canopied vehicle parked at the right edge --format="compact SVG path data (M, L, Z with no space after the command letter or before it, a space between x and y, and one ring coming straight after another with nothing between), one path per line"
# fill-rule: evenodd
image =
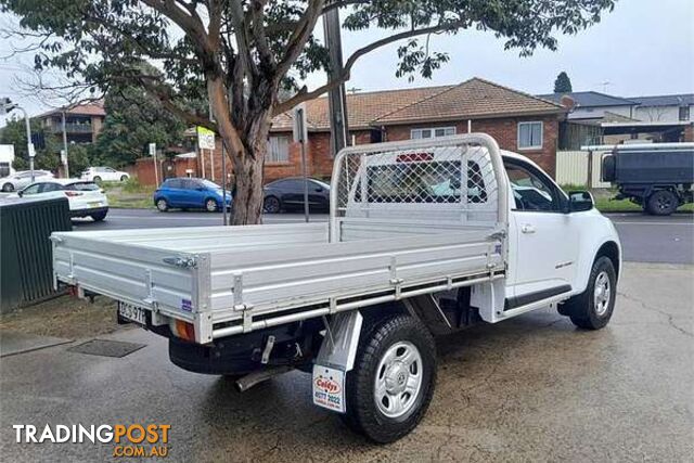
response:
M602 179L647 214L669 216L692 203L694 143L618 145L602 159Z

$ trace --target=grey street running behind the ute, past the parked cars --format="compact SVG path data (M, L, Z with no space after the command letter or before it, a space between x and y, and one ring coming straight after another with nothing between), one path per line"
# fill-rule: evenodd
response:
M643 214L608 216L619 232L624 257L628 261L694 263L694 216L677 214L653 217ZM274 214L265 223L288 223L304 220L301 214ZM325 221L325 214L311 215L311 221ZM159 213L153 209L111 209L106 220L75 220L75 230L120 230L137 228L201 227L222 223L221 214Z

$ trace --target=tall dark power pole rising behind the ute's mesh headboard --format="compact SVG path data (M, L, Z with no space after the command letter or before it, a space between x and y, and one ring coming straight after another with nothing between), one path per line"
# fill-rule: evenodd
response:
M343 44L339 30L339 9L334 8L323 15L323 34L330 55L330 81L339 78L343 73ZM347 98L345 83L340 83L327 94L330 111L330 145L333 156L347 145L349 133L347 120Z

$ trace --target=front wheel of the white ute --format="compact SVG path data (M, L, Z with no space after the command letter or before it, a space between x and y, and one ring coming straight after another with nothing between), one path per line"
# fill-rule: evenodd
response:
M561 305L560 313L568 316L576 326L600 330L609 322L616 298L615 266L609 258L601 256L593 262L586 291Z

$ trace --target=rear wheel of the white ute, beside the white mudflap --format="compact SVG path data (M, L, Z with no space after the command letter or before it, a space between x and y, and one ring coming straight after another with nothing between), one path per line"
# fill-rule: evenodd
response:
M398 440L426 413L435 383L436 347L426 326L407 314L384 318L361 335L343 421L376 442Z

